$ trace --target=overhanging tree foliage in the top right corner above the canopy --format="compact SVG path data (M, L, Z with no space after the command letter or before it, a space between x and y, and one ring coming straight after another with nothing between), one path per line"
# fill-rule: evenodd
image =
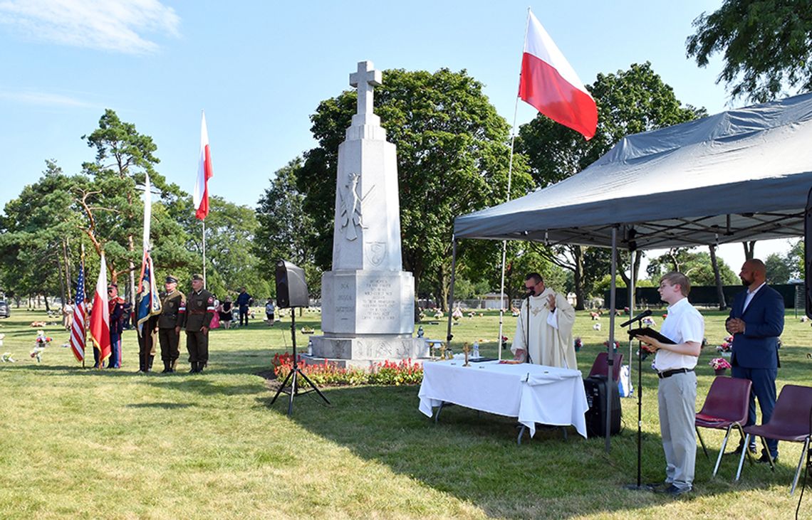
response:
M693 20L686 41L700 67L723 54L723 81L733 98L763 102L786 89L812 89L812 1L725 0L710 15Z

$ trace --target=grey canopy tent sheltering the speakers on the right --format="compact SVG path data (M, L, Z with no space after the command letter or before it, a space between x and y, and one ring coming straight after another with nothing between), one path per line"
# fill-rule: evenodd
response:
M800 236L810 187L812 93L807 93L629 135L560 183L456 217L454 240L636 251Z

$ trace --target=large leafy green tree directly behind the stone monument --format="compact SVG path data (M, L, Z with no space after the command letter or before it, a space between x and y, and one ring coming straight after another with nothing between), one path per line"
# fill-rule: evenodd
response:
M426 273L447 286L454 217L507 196L508 123L466 71L383 71L374 102L388 140L398 148L404 269L417 286ZM304 210L313 217L314 259L322 269L330 268L332 253L338 148L355 111L356 92L318 105L311 120L319 146L305 154L296 176ZM512 185L515 195L529 187L521 157L514 161ZM468 242L460 248L460 262L482 251Z

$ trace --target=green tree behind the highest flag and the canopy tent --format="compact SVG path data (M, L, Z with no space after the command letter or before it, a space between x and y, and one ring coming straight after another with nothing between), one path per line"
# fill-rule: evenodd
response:
M607 153L626 135L668 127L706 115L704 109L683 106L673 89L651 68L650 62L633 64L627 71L598 74L587 86L598 105L598 129L585 141L576 131L553 122L542 114L522 125L516 149L528 158L530 174L537 187L557 183L584 170ZM607 273L611 255L591 248L566 245L543 250L556 264L573 273L577 308L583 309L594 283ZM619 273L624 273L624 256L618 257ZM639 261L632 275L637 279Z

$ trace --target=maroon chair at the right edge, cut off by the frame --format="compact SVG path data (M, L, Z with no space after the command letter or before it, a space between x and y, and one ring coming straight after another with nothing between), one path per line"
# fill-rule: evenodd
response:
M770 421L767 424L745 427L745 446L749 442L751 435L761 436L764 451L767 453L767 457L770 458L770 469L772 471L775 471L775 464L767 449L765 438L804 443L804 447L801 449L801 460L798 461L798 467L795 471L793 487L789 490L790 495L795 492L798 477L801 476L801 466L803 466L806 453L810 449L810 437L812 437L810 422L812 422L812 387L785 385L781 389L778 400L775 401L775 410L772 412ZM741 475L741 466L745 462L745 453L747 451L747 449L744 449L741 452L736 480Z

